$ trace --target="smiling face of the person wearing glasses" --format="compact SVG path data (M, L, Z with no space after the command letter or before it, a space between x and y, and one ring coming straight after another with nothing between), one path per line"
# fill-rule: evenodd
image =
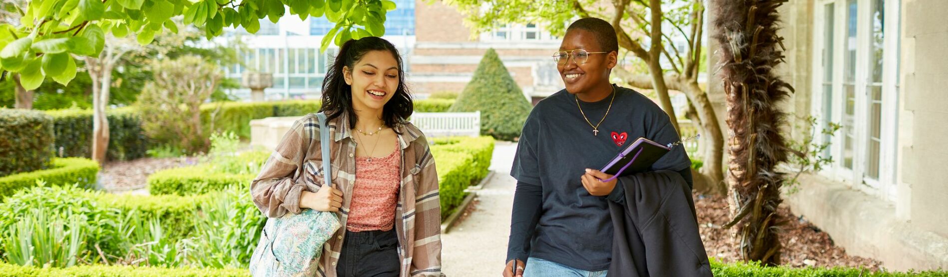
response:
M585 49L589 52L602 52L603 47L599 46L595 35L581 28L574 28L566 32L563 42L559 45L559 50L569 51L574 49ZM575 53L575 52L574 52ZM574 58L570 59L564 65L556 65L559 71L559 77L566 83L566 90L571 94L590 93L596 88L609 87L609 73L616 64L616 53L589 54L589 59L584 64L577 64Z

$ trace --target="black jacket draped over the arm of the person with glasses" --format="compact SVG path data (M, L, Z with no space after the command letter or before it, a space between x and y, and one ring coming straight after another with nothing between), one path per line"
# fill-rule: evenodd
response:
M610 201L610 276L712 276L684 177L661 170L619 178L625 203Z

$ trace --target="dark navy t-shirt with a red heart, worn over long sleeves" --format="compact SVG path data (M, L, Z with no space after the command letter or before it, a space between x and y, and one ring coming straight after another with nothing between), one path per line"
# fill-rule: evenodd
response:
M599 102L579 101L593 125L610 109L598 135L583 119L575 96L565 89L538 102L530 113L510 173L518 185L508 261L525 261L529 256L584 270L609 268L609 200L589 194L580 176L586 168L602 168L626 143L640 137L662 144L679 140L665 112L642 94L616 86L615 100L609 108L611 101L611 96ZM690 165L684 148L679 146L651 169L683 171ZM624 198L622 195L618 194ZM533 211L539 207L531 205L537 204L527 203L534 203L537 197L541 208Z

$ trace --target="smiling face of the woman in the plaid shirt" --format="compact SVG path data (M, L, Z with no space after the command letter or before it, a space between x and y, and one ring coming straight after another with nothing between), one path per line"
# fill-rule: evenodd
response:
M398 62L390 51L367 52L352 68L342 70L346 83L352 86L356 111L381 112L398 89Z

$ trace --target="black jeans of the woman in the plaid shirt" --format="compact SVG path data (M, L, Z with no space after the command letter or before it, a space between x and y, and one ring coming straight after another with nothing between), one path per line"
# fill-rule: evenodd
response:
M339 277L398 276L398 235L390 231L346 231L336 271Z

